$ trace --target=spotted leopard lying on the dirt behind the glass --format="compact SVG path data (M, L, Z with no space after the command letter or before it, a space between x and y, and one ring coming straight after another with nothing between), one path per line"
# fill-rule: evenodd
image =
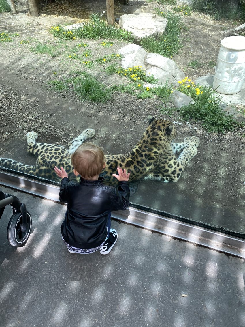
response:
M114 185L112 176L121 167L130 173L129 181L150 179L162 182L177 182L187 163L197 155L200 140L197 136L187 136L182 143L174 143L176 125L169 120L148 117L149 126L139 142L126 154L105 154L106 167L100 176L108 185ZM50 181L60 179L54 172L55 166L62 166L70 180L75 177L71 155L87 139L95 135L94 129L86 129L68 144L68 149L55 144L38 143L34 131L26 134L27 152L37 156L36 165L27 165L12 159L0 158L0 166L33 175Z

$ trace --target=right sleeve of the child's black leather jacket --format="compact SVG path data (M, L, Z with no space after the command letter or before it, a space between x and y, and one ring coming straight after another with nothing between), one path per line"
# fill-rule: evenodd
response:
M129 182L128 181L120 181L118 190L116 191L114 201L112 204L111 211L116 210L126 210L129 206Z

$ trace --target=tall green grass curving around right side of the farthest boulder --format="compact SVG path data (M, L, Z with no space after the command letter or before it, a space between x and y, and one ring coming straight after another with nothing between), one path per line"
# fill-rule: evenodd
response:
M172 58L183 47L179 42L179 34L184 26L181 22L181 16L172 10L160 11L157 9L156 13L168 20L165 32L159 39L154 37L143 38L140 45L147 52L159 53L161 56Z

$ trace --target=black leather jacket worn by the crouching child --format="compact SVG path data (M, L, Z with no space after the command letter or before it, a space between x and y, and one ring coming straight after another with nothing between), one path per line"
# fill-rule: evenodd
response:
M107 236L107 220L111 211L126 210L129 206L129 183L120 181L118 191L98 181L80 182L63 178L59 192L60 202L67 203L65 220L60 226L66 243L79 249L100 246Z

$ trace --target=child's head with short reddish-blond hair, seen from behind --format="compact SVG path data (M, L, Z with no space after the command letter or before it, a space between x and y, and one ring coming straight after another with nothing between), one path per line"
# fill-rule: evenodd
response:
M71 156L74 169L85 179L99 175L105 166L105 155L99 146L83 143Z

